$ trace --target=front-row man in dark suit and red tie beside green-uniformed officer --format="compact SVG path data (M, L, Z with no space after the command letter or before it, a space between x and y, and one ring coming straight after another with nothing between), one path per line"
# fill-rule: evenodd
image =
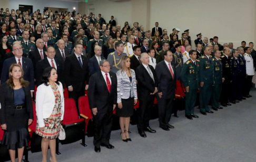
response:
M158 79L157 105L159 113L160 127L165 131L170 131L169 128L174 128L170 125L173 99L175 98L176 90L176 72L172 62L172 52L166 50L163 52L164 60L156 64Z

